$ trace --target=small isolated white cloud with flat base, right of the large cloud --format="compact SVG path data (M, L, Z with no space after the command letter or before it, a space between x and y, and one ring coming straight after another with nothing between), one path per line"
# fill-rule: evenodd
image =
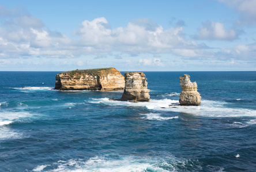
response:
M225 29L220 22L207 21L197 29L195 38L200 40L234 40L238 34L234 29Z

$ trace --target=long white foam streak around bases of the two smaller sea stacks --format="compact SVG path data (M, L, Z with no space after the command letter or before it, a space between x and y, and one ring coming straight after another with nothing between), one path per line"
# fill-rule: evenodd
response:
M172 111L185 114L192 114L198 116L209 117L243 117L253 116L256 117L256 110L245 108L231 108L227 107L229 103L224 101L201 100L201 105L198 106L180 106L179 100L171 99L151 99L149 102L133 103L129 101L113 101L108 98L91 99L89 103L102 103L107 105L122 105L132 107L146 107L149 110L156 111Z

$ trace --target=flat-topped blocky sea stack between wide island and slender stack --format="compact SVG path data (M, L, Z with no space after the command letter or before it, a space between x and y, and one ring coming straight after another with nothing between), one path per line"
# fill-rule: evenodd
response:
M149 89L143 72L125 73L125 91L121 101L149 101Z

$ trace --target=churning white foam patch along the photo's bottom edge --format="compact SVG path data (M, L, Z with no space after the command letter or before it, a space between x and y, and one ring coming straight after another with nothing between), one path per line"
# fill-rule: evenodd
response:
M178 159L170 155L163 157L134 157L134 156L107 156L92 157L88 160L70 159L69 161L58 161L47 165L48 171L178 171L182 168L193 166L195 169L202 169L198 160ZM45 165L44 165L45 166ZM37 166L40 167L40 166ZM37 168L36 167L36 168ZM35 168L35 169L36 169Z

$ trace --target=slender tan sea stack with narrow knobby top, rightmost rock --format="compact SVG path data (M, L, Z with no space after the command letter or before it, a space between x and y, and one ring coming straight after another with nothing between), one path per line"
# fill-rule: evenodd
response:
M197 83L191 83L190 76L185 74L179 77L182 92L179 95L179 103L181 105L199 105L201 96L197 92Z

